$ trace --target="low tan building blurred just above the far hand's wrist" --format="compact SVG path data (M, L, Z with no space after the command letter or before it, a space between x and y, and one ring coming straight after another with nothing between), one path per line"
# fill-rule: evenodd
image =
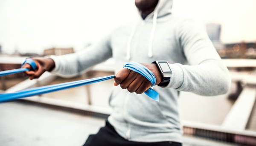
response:
M73 48L50 48L44 50L44 56L47 55L65 55L65 54L70 54L74 53Z

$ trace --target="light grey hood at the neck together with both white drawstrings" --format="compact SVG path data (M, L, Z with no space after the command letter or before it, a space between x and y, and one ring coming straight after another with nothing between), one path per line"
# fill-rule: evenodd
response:
M154 39L154 33L155 33L155 29L157 27L157 18L160 17L165 17L169 14L172 14L172 0L159 0L157 3L156 8L154 9L154 11L152 11L150 14L148 14L147 17L145 17L145 20L143 20L143 18L141 17L140 11L138 10L139 16L140 16L140 20L143 21L147 21L149 19L153 19L153 26L152 26L152 30L151 30L151 37L149 39L149 45L148 45L148 57L152 57L153 53L152 53L152 42ZM136 31L136 25L137 23L135 23L132 31L131 31L131 35L128 39L128 43L127 43L127 54L126 54L126 60L130 60L131 59L131 41L133 39L133 36L135 34Z

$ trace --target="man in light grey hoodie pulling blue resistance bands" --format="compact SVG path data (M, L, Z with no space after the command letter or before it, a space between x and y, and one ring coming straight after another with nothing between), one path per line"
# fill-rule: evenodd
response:
M113 113L84 146L181 146L179 92L211 96L227 93L230 87L227 67L207 34L191 20L172 16L172 0L135 0L135 5L140 13L137 22L116 28L89 49L34 59L38 69L26 73L29 79L45 71L76 76L88 67L115 59L116 87L109 101ZM159 64L151 63L159 60L169 62L171 78L161 73L164 70ZM159 102L141 94L151 87L150 81L122 68L131 61L154 73Z

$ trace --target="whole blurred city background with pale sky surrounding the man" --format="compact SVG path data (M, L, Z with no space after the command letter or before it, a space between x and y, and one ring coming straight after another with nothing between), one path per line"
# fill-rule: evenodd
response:
M207 31L232 77L225 95L180 94L185 146L256 146L256 0L174 0L172 14ZM134 0L0 0L0 70L31 56L86 49L135 19ZM112 75L113 59L72 79L1 76L0 92ZM81 146L111 113L113 80L0 104L0 146ZM100 89L100 92L99 92Z

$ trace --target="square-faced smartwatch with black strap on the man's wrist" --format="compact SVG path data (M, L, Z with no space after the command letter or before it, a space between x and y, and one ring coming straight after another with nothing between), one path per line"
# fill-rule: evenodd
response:
M157 86L167 86L171 80L172 69L167 61L152 62L157 65L157 69L162 74L162 81Z

